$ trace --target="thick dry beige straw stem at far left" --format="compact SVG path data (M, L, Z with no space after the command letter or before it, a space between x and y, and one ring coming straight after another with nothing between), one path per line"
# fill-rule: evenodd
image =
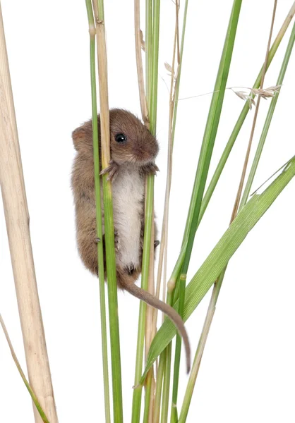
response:
M3 37L3 35L4 33L2 32L0 36ZM2 38L1 46L3 45L4 39ZM50 422L57 423L52 379L32 257L25 183L20 166L18 134L16 132L16 124L13 123L13 120L11 122L11 116L14 116L12 91L11 87L8 88L8 74L4 75L4 71L8 71L6 49L0 50L0 63L6 63L0 69L0 182L13 276L16 284L20 324L23 332L25 357L30 385L39 398L40 404ZM34 414L35 422L42 422L35 407Z

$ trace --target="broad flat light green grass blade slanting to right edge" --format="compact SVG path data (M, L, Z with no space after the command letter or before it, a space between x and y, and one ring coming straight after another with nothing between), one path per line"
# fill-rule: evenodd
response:
M186 302L184 306L183 320L186 321L198 306L204 295L221 274L229 259L234 255L239 245L246 238L259 219L284 190L289 181L295 176L295 158L293 157L285 166L282 173L260 195L253 195L251 200L243 207L234 219L231 226L224 233L217 245L213 248L205 262L200 266L186 288ZM177 307L177 303L175 308ZM168 320L164 321L157 332L148 354L147 365L141 382L155 362L156 358L168 345L176 333L175 326Z

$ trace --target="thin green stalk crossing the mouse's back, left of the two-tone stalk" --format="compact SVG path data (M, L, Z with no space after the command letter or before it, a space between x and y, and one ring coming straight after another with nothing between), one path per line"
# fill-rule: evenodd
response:
M92 99L92 134L93 134L93 159L95 170L95 204L96 204L96 222L97 222L97 260L98 277L100 283L100 324L102 331L102 368L104 377L104 414L105 421L111 422L111 411L109 401L109 371L107 358L107 313L105 304L104 287L104 247L102 234L102 204L100 190L100 151L98 147L98 123L97 123L97 94L96 94L96 76L95 76L95 22L92 13L90 0L86 0L88 14L89 35L90 35L90 76L91 76L91 99Z

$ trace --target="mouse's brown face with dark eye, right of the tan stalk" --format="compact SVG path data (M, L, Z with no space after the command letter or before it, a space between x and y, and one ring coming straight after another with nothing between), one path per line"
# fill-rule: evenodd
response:
M155 161L159 152L156 138L129 111L109 111L111 156L117 164L143 166Z

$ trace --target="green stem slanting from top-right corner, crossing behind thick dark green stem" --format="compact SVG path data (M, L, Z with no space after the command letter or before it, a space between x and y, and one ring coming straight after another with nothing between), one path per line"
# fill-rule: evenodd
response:
M270 49L270 52L268 54L268 60L267 60L267 69L270 66L270 63L272 63L272 59L275 56L275 53L277 52L277 49L279 47L279 44L281 43L288 27L289 27L289 23L291 22L292 18L294 17L295 14L295 3L291 6L291 9L289 10L289 13L287 14L286 19L284 20L284 23L282 25L282 27L280 28L277 37L275 38L275 41L272 44L272 47ZM260 69L260 73L258 74L258 77L256 78L253 88L258 88L260 86L260 81L261 81L261 75L263 72L263 66ZM219 162L217 164L217 168L215 169L215 172L212 176L212 179L210 180L210 183L208 185L207 191L205 192L205 195L203 197L203 201L201 204L201 208L200 208L200 215L199 215L199 221L198 221L198 225L200 224L200 221L203 219L203 215L207 209L207 205L209 204L212 194L216 188L216 185L218 183L218 180L220 178L220 175L222 174L222 171L224 169L225 164L227 163L227 159L229 158L229 154L231 153L231 149L232 147L234 147L234 143L236 142L236 138L239 135L239 132L241 130L241 127L246 119L246 116L248 114L249 111L249 106L248 103L244 104L243 109L241 111L241 114L238 118L238 120L236 121L236 125L234 126L234 130L232 131L230 137L229 137L229 141L227 142L226 147L224 148L224 152L222 153L222 157L220 157ZM186 243L187 243L187 238L186 240L183 240L183 245L181 247L181 252L179 253L179 257L176 261L176 264L174 266L174 269L172 271L172 274L169 278L169 285L171 286L171 289L174 288L177 277L180 274L181 271L181 266L183 264L183 258L186 252Z

